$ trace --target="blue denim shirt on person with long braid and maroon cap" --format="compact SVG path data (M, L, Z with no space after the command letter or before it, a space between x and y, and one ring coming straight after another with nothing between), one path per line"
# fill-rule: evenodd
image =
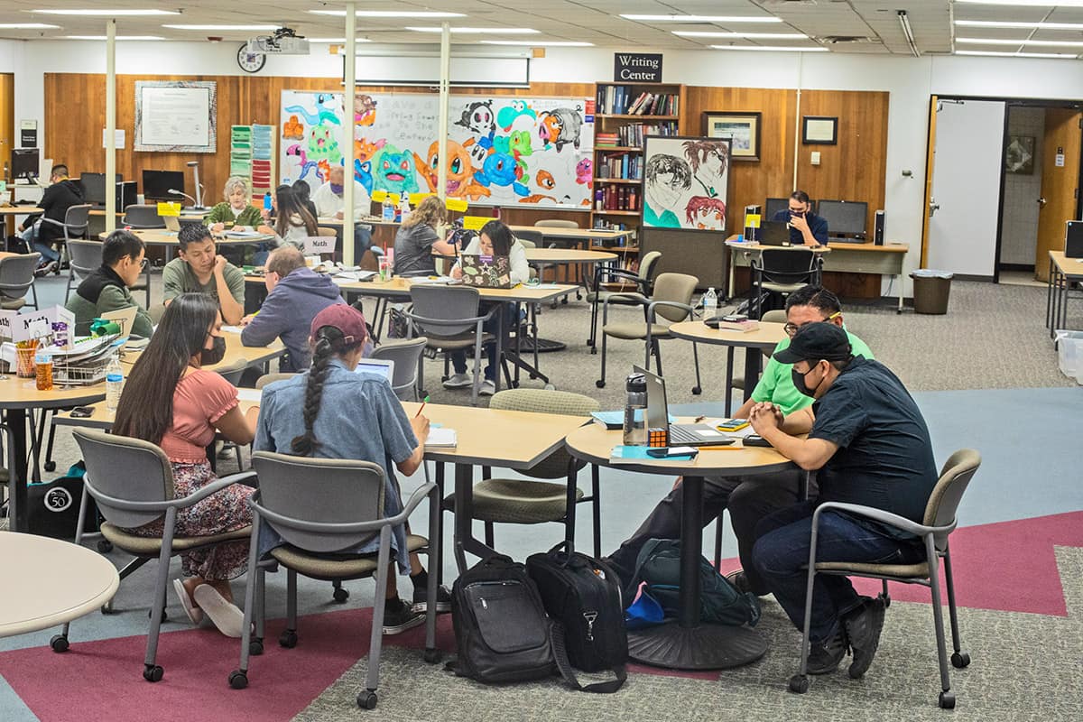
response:
M252 448L257 451L292 454L290 443L304 433L304 393L309 372L276 381L263 389L260 419ZM393 516L402 511L394 464L405 461L417 447L417 437L402 404L391 390L391 383L375 373L353 372L339 360L332 360L324 381L319 413L313 424L316 441L315 457L319 459L358 459L383 468L387 477L384 513ZM282 539L266 527L260 533L260 554L279 546ZM392 543L402 574L409 572L404 525L394 527ZM348 553L369 553L379 549L379 538L343 550Z

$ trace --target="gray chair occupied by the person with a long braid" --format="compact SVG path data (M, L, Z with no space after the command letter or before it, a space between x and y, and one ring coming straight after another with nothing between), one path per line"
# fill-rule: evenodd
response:
M388 588L391 562L391 529L405 524L421 500L429 499L429 538L409 535L406 546L410 551L427 550L439 559L440 537L436 534L440 499L436 485L426 483L410 496L402 512L383 515L384 476L379 464L344 459L310 459L257 451L252 467L259 473L260 490L248 503L252 509L252 531L249 544L248 568L259 578L249 583L245 593L244 634L240 640L240 667L230 674L230 685L235 690L248 685L248 661L252 652L263 648L262 581L265 569L275 563L286 567L286 629L278 638L284 647L297 644L297 575L312 579L344 580L376 578L373 628L368 646L368 671L365 690L357 695L357 705L364 709L376 707L376 690L380 680L380 651L383 641L383 604ZM318 489L318 491L316 490ZM271 552L270 560L259 561L260 524L276 531L285 541ZM336 553L351 549L370 539L379 538L377 554ZM430 565L431 566L431 565ZM429 575L429 599L436 598L436 574ZM260 591L257 612L257 591ZM252 638L252 620L256 636ZM436 605L426 612L425 659L435 662Z

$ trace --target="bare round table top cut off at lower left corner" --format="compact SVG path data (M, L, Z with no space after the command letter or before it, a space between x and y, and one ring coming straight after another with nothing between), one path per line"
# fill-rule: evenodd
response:
M71 621L103 606L120 586L109 560L69 541L0 531L0 636Z

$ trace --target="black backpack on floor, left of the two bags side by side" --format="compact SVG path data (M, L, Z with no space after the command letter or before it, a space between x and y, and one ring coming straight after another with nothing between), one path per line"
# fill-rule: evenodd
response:
M488 684L551 677L549 620L526 567L501 554L459 575L452 588L458 658L446 669Z

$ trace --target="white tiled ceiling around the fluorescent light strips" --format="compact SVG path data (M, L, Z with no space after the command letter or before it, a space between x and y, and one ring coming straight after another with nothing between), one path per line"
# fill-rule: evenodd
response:
M284 24L310 38L341 38L342 17L313 15L306 11L342 9L342 2L293 0L289 8L278 2L247 0L3 0L0 24L48 23L60 29L22 30L0 28L0 38L63 38L68 35L103 35L104 17L47 15L36 9L177 9L181 15L152 17L119 17L118 35L155 35L170 40L201 40L220 36L227 40L245 40L257 31L249 30L177 30L162 24ZM1027 30L957 27L952 19L1021 21L1083 24L1083 8L1048 5L984 5L951 2L950 0L406 0L401 2L361 1L358 10L441 10L461 12L467 17L452 19L453 25L471 27L530 27L535 36L456 36L455 41L474 39L536 39L585 41L599 47L694 50L712 44L825 47L832 52L880 53L909 55L897 11L906 11L916 45L922 54L943 54L954 50L994 50L1000 52L1058 52L1083 54L1083 48L1049 48L1023 44L954 43L957 38L992 38L1008 40L1083 41L1079 30ZM669 23L628 21L618 13L778 16L774 24ZM433 19L357 18L358 36L375 42L432 43L430 34L405 29L407 25L438 25ZM719 38L682 38L671 30L738 31L738 32L803 32L809 40L749 40ZM857 42L832 42L830 38L849 36Z

